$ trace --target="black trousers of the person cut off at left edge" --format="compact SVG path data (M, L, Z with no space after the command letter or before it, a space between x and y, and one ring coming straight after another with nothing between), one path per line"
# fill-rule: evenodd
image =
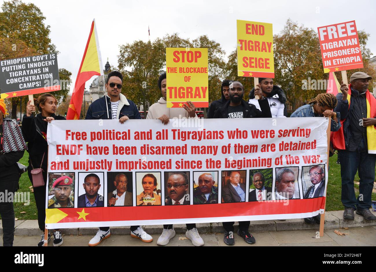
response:
M13 246L14 239L14 209L13 202L8 202L8 193L14 193L17 180L0 181L0 193L4 194L7 202L0 202L0 215L3 225L3 246ZM6 193L6 194L5 194Z

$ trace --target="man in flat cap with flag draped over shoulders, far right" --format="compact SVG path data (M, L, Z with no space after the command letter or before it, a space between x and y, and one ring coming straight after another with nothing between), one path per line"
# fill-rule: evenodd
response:
M354 220L354 210L366 220L376 220L370 212L376 164L376 99L368 91L372 77L355 72L350 85L341 85L338 105L341 128L332 142L338 149L341 164L343 218ZM355 197L354 177L359 171L359 196Z

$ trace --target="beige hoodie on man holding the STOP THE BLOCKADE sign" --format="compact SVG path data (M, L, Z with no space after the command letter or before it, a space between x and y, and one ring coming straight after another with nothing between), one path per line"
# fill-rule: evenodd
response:
M149 112L147 113L146 119L158 119L163 114L167 115L168 118L173 119L186 117L188 118L188 111L184 108L167 108L167 101L163 97L159 98L158 102L154 103L149 107ZM191 117L189 117L191 118ZM197 114L193 118L197 117Z

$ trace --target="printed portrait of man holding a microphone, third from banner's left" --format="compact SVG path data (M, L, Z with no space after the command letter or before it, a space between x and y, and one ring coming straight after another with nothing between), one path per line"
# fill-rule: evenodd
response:
M108 193L108 206L132 206L132 192L127 191L128 179L123 173L115 176L114 185L116 187L116 196L114 192Z

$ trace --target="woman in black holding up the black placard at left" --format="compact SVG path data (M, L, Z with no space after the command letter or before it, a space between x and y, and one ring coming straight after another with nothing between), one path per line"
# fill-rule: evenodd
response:
M65 120L65 117L55 115L58 100L50 93L44 93L39 95L35 101L36 107L38 107L40 113L33 115L35 112L35 105L30 104L31 100L27 102L26 114L22 120L22 132L25 140L28 142L29 152L29 166L27 167L27 173L29 179L33 183L31 170L33 168L42 168L42 174L44 179L44 186L34 188L35 204L38 210L38 225L41 231L44 233L45 226L45 201L46 201L46 186L47 186L47 123L52 120ZM63 243L63 238L59 230L55 230L53 233L54 240L53 245L59 246ZM50 233L46 240L50 240ZM44 234L42 239L38 243L38 246L43 246Z

